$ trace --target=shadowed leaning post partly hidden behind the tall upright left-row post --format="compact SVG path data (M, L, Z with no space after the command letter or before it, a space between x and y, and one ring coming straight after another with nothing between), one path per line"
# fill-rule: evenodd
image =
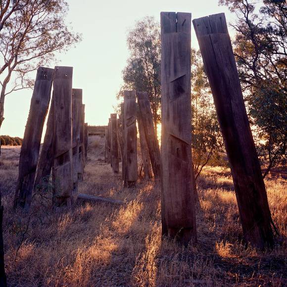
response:
M34 182L34 192L42 191L43 189L45 189L45 187L47 187L50 179L51 169L53 166L53 101L54 93L52 93L44 143L42 145L42 150L37 165L37 174Z

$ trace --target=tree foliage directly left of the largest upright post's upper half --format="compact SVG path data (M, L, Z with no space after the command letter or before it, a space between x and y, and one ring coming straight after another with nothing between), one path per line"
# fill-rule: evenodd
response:
M160 120L160 26L153 17L144 17L136 22L128 33L130 51L127 65L123 69L124 85L121 90L147 92L153 121ZM121 93L120 93L121 95Z

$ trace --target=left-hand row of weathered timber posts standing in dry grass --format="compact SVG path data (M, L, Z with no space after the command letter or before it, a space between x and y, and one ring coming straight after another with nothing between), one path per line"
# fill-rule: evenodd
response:
M72 77L72 67L40 67L37 71L20 152L14 208L21 206L28 210L33 191L43 191L51 173L54 204L68 207L73 204L78 181L83 180L88 132L82 90L72 89ZM49 102L47 129L39 156Z

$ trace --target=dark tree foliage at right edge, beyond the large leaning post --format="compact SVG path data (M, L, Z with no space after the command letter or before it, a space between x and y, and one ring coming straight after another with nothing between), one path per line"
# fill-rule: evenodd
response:
M287 2L219 2L237 15L231 25L236 31L234 53L265 176L286 163Z

